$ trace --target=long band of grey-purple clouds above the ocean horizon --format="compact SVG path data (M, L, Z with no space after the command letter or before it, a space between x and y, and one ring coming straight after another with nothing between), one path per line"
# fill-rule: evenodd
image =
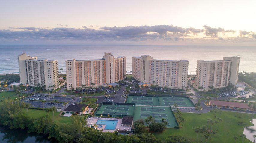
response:
M62 25L62 24L58 24ZM7 30L0 30L0 44L5 41L76 41L99 43L126 41L133 42L162 42L162 43L186 43L186 42L254 42L254 32L240 31L239 37L222 37L219 33L234 33L234 30L214 28L205 25L204 29L193 27L183 28L173 25L155 26L125 26L125 27L99 27L93 29L83 26L82 28L37 28L37 27L9 27ZM97 27L97 26L96 26ZM14 30L15 29L15 30ZM200 34L200 35L199 35ZM206 36L202 37L202 34ZM198 36L199 35L199 36ZM246 37L244 35L247 35ZM236 39L236 40L235 40ZM54 43L54 42L53 42Z

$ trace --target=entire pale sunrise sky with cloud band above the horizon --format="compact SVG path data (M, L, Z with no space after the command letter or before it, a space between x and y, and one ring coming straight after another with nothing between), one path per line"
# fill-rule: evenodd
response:
M256 45L255 0L0 0L0 44Z

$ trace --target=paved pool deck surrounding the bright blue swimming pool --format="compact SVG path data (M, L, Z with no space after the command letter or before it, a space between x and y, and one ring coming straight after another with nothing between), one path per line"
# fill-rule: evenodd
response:
M87 118L87 126L90 127L91 125L96 124L96 122L98 120L115 120L118 121L117 125L116 125L116 129L115 130L131 130L131 127L127 127L127 126L122 126L122 119L120 118L107 118L107 117L91 117L91 118ZM105 130L106 125L102 125L102 128L97 128L97 130L103 130L103 132L114 132L115 130Z

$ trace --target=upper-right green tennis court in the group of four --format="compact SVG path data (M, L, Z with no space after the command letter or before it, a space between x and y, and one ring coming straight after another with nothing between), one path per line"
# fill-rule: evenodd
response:
M169 106L177 104L182 107L194 107L186 97L158 97L160 106Z

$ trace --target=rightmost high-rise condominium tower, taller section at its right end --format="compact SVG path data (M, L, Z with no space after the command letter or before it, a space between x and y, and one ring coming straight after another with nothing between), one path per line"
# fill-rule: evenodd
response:
M197 61L196 88L222 88L237 84L240 57L223 57L223 60Z

